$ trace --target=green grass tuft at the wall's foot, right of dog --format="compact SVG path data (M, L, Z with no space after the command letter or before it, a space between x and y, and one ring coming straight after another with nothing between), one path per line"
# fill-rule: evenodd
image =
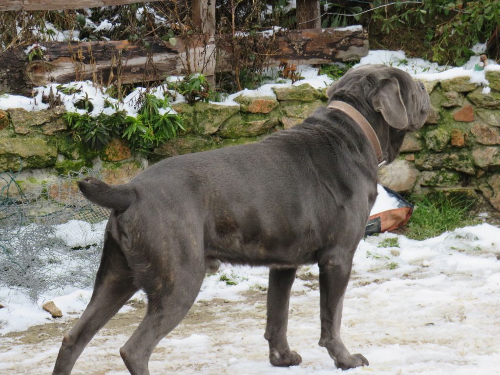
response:
M444 193L413 196L416 201L405 235L412 239L435 237L445 231L476 222L468 210L473 200Z

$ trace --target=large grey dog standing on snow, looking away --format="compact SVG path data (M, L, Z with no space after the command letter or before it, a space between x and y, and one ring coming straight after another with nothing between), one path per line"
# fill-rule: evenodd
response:
M301 362L286 339L288 300L297 267L311 263L319 265L319 345L339 368L368 364L349 353L339 331L352 257L377 195L376 150L394 160L406 131L427 118L429 96L406 72L382 65L349 70L327 94L330 105L357 111L322 107L260 142L171 157L126 184L79 182L89 200L112 211L92 297L62 339L53 374L69 374L138 289L147 312L119 351L131 374L148 374L154 347L182 320L217 260L270 267L271 364ZM367 136L373 130L379 143Z

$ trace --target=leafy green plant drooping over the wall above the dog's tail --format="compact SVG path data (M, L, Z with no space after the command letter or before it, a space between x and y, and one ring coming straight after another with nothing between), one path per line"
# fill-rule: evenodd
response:
M123 110L113 114L66 112L64 117L73 136L94 149L102 148L111 138L126 138L135 153L147 154L161 143L174 138L179 129L185 130L178 114L168 110L168 97L144 94L136 117Z

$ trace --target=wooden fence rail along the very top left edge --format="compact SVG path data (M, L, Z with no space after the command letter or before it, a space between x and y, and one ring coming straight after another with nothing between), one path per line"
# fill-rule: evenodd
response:
M0 0L0 11L84 9L150 1L154 0Z

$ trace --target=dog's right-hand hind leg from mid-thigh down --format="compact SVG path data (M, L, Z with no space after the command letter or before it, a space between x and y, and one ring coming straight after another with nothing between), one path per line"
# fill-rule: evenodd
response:
M189 251L168 260L168 270L151 274L144 287L147 311L120 355L132 375L147 375L149 357L158 342L184 318L194 303L205 275L204 259ZM175 259L175 260L174 260ZM158 268L156 268L158 269Z

